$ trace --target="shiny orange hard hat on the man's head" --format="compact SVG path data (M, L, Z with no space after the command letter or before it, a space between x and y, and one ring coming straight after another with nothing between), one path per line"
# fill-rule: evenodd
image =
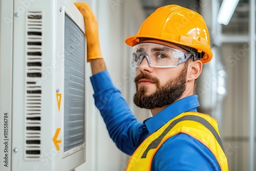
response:
M158 8L140 26L138 33L125 39L129 46L135 46L140 38L158 39L195 48L203 52L202 63L212 58L210 37L203 17L190 9L167 5Z

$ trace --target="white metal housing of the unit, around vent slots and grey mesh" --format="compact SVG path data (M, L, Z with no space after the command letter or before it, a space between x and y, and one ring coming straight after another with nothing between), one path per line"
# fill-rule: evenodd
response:
M7 16L12 18L14 11L14 18L11 19L9 28L7 24L1 23L1 83L6 82L5 87L1 84L1 112L2 109L5 112L11 113L11 104L13 109L13 127L10 132L13 133L12 147L9 144L8 148L16 148L17 151L12 152L12 157L9 160L9 164L12 165L12 170L71 170L77 165L84 162L84 145L71 152L71 156L63 156L63 125L62 125L62 112L63 103L60 103L62 110L58 110L56 93L63 94L63 81L61 72L63 71L63 25L65 12L71 13L70 15L75 19L76 24L84 32L83 16L69 1L0 1L1 2L1 17ZM5 2L5 3L4 3ZM67 7L65 11L65 6ZM10 7L10 8L7 8ZM6 9L6 10L5 10ZM62 10L61 10L62 9ZM31 24L28 22L28 15L42 16L39 23ZM38 15L37 15L38 16ZM1 19L1 22L5 20ZM32 22L32 21L31 21ZM14 27L12 29L12 23ZM33 22L32 22L33 23ZM2 29L3 28L3 29ZM38 39L36 35L27 36L28 31L36 31L42 34L41 38ZM4 35L2 35L4 33ZM12 33L14 37L12 47ZM33 33L34 34L34 33ZM2 42L5 41L5 44ZM40 48L37 45L40 44ZM3 46L4 45L4 46ZM30 46L32 45L32 46ZM8 48L7 48L8 47ZM5 50L2 50L5 48ZM12 58L13 48L13 58ZM41 70L27 66L28 52L29 51L40 51L41 57L37 57L36 61L42 63ZM8 56L8 57L4 57ZM30 58L34 58L30 57ZM13 63L12 63L13 59ZM12 75L13 65L13 75ZM5 70L3 72L2 70ZM28 74L37 74L41 77L27 77ZM5 75L4 75L5 74ZM4 77L3 77L4 76ZM7 77L6 77L7 76ZM11 82L13 81L13 82ZM41 93L39 93L38 103L30 103L27 99L29 87L27 81L34 82L34 90L40 87ZM13 83L13 84L12 84ZM13 85L13 87L12 87ZM13 89L12 89L13 88ZM13 90L13 99L11 102L11 89ZM33 90L29 90L33 91ZM3 93L2 93L3 92ZM34 93L33 93L34 94ZM3 98L6 96L6 99ZM10 97L10 98L8 98ZM62 96L63 97L63 96ZM8 99L7 99L8 98ZM4 100L4 102L3 102ZM31 100L31 99L29 99ZM32 99L33 100L33 99ZM35 100L34 100L35 101ZM62 100L63 101L63 100ZM27 105L28 103L29 106ZM5 107L3 107L3 105ZM37 121L26 121L28 117L28 111L38 111L40 120ZM34 115L34 114L31 114ZM4 115L3 115L4 116ZM2 119L2 115L1 115ZM11 119L11 116L10 116ZM10 123L11 126L11 123ZM28 131L28 127L38 127L37 133L34 131ZM2 127L2 120L1 120ZM59 143L60 149L54 145L53 138L55 137L57 129L60 129L58 140L62 140ZM2 129L1 129L2 130ZM10 134L9 134L10 135ZM28 138L28 136L32 138ZM33 139L40 140L39 145L28 145L26 140ZM37 157L32 154L26 155L28 148L39 149ZM2 147L2 143L1 143ZM1 148L2 149L2 148ZM82 150L80 150L82 149ZM76 153L74 153L76 152ZM74 153L74 154L73 154ZM1 153L2 154L2 153ZM63 158L65 157L65 158ZM10 168L10 167L9 167ZM8 170L9 170L8 168ZM2 165L1 165L2 170ZM6 168L5 168L6 170Z

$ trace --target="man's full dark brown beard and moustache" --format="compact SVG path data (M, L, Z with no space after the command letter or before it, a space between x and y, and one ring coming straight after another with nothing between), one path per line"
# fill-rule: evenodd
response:
M134 94L133 101L139 108L155 109L161 108L165 105L170 105L177 101L186 90L186 75L187 67L184 67L182 72L174 79L168 80L164 86L160 86L158 78L150 74L141 72L135 77L134 82L136 85L136 93ZM138 90L140 79L148 79L156 84L156 92L151 95L146 95L147 87L141 86Z

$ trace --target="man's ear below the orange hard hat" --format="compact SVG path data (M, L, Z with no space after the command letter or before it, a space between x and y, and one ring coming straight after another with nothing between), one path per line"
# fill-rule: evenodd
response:
M195 80L202 72L203 63L201 60L195 60L188 63L187 80Z

